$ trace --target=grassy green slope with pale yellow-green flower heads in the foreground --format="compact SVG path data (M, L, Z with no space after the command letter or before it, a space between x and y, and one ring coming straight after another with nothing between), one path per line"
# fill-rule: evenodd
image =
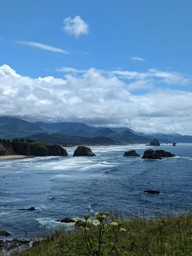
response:
M137 213L112 211L97 213L84 226L65 231L64 226L32 248L11 256L189 256L192 255L192 214L189 211L156 213L139 217ZM93 221L94 220L94 221Z

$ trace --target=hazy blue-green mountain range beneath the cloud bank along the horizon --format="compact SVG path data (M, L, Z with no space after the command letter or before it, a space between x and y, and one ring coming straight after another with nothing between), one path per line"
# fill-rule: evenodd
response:
M178 133L163 134L135 132L128 127L91 127L84 123L30 123L13 117L0 117L0 138L12 139L29 137L35 134L60 134L72 137L106 137L122 143L148 143L156 138L160 143L192 143L192 136ZM33 136L32 136L33 137ZM57 135L58 137L58 135ZM71 137L71 138L72 138ZM33 137L34 138L34 137Z

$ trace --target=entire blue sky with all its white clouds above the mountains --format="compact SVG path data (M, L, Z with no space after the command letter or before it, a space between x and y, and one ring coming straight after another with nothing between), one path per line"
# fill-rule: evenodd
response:
M0 116L192 135L192 1L7 0Z

